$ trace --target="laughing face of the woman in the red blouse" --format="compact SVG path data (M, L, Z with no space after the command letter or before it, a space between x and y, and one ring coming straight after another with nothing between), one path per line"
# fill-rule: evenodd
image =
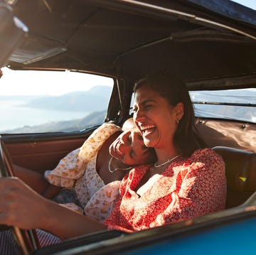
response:
M135 92L134 121L148 147L172 143L176 131L176 108L146 85Z

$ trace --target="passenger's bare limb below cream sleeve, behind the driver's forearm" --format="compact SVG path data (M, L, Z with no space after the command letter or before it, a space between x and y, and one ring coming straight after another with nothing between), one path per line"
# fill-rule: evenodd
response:
M48 183L41 173L18 165L13 165L13 170L16 177L46 198L52 198L60 191L60 187Z

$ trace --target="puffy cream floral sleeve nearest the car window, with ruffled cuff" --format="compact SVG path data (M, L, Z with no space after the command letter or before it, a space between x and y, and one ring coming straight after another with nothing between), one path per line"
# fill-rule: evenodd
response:
M85 172L87 163L97 156L102 144L112 134L121 130L121 127L115 124L102 124L92 132L80 148L71 151L61 159L55 169L46 170L46 180L58 187L72 188L75 180L78 180Z

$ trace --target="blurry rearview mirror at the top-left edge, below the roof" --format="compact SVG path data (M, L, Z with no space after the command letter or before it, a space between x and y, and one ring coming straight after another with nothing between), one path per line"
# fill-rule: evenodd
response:
M11 6L0 4L0 67L26 38L28 28L14 16Z

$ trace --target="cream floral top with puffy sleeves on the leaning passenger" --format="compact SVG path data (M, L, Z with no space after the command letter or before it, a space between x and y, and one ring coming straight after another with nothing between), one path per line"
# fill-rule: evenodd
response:
M45 178L49 183L68 189L75 188L83 212L73 203L65 204L66 207L100 222L110 214L114 201L119 195L121 181L117 180L105 185L97 174L96 160L102 144L112 134L121 130L115 124L102 124L80 148L68 153L55 169L45 172Z

